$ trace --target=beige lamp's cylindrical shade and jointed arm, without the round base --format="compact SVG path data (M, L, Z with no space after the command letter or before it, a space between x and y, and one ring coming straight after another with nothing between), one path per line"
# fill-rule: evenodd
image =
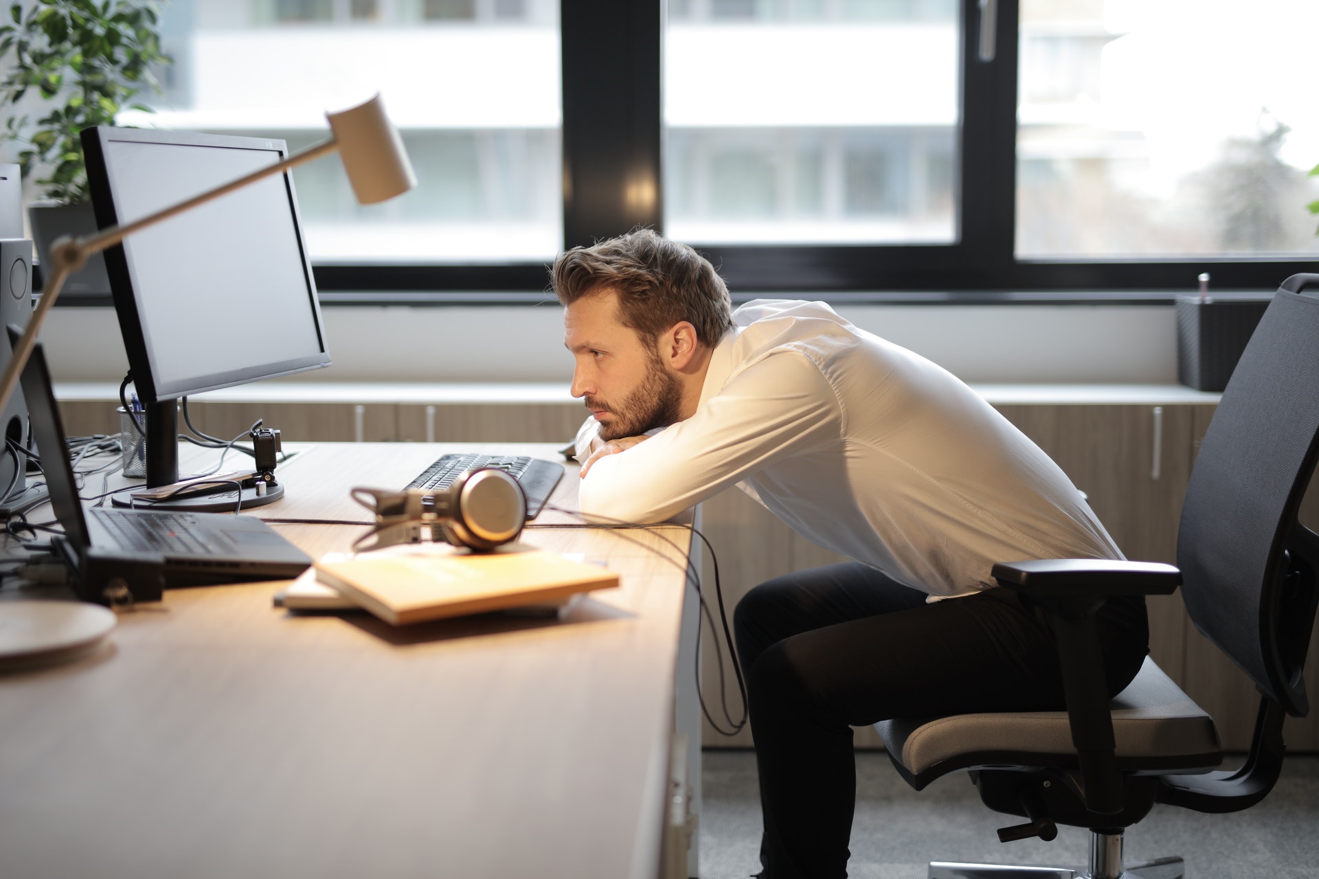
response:
M133 220L124 225L112 225L102 229L98 235L70 239L62 237L50 248L50 277L41 291L41 299L28 319L28 328L22 339L15 345L9 357L9 365L0 377L0 410L9 402L18 376L22 373L28 357L32 354L32 345L37 341L37 332L41 323L55 303L61 287L70 274L82 269L87 258L111 248L135 232L156 225L171 216L191 211L214 199L240 190L249 183L281 174L290 167L310 162L314 158L339 150L343 169L348 173L348 182L352 184L352 194L361 204L376 204L402 195L417 184L408 153L404 150L398 132L385 116L384 104L377 94L364 104L352 107L338 113L326 113L330 120L332 137L323 144L309 146L307 149L290 156L282 162L277 162L247 177L218 186L208 192L202 192L194 198L181 202L173 207L164 208L156 213Z

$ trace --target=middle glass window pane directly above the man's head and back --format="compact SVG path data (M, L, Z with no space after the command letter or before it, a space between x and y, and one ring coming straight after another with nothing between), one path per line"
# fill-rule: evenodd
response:
M948 0L670 0L666 233L955 241L959 20Z

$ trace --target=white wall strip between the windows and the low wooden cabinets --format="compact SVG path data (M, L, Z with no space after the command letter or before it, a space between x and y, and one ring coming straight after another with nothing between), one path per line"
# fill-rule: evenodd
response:
M968 382L1175 382L1170 306L840 306L856 324ZM327 307L334 366L306 381L567 381L562 310ZM227 332L240 332L237 323ZM57 381L128 369L112 308L55 308L42 328Z

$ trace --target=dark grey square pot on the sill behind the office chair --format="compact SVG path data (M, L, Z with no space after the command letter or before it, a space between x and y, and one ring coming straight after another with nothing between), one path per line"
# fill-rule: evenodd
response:
M1177 298L1177 380L1196 390L1223 390L1272 293Z

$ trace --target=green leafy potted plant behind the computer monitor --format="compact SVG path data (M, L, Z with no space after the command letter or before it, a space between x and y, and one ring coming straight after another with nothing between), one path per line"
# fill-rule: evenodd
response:
M38 169L42 204L29 208L42 262L63 235L96 231L78 132L113 125L115 116L142 88L160 91L152 67L170 63L161 53L160 5L150 0L38 0L15 3L0 25L0 57L12 51L0 80L9 113L0 138L24 145L22 175ZM15 115L29 92L40 94L46 115L32 123ZM135 104L133 109L150 111ZM100 256L69 278L69 293L109 293Z

